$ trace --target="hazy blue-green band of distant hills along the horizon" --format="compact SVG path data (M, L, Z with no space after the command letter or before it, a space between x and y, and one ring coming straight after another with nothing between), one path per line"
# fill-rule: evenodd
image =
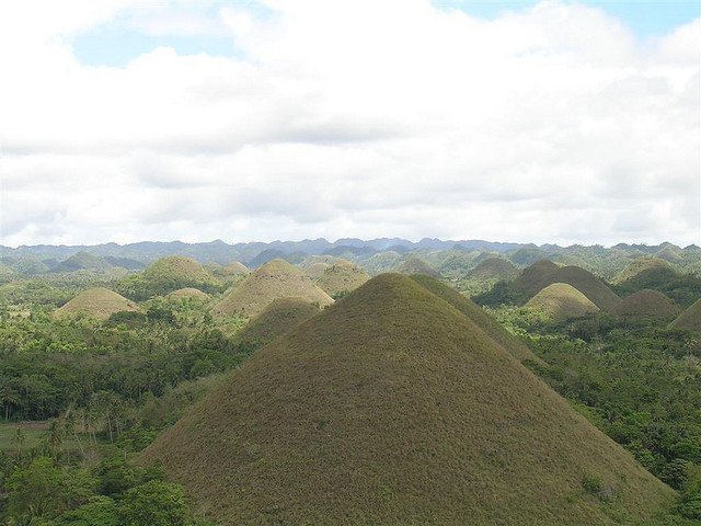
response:
M238 261L251 270L275 259L304 265L311 258L343 258L360 264L370 274L394 270L402 262L418 258L450 278L466 276L490 258L493 260L492 264L497 261L502 265L513 265L512 274L545 259L558 265L581 266L610 283L620 283L650 262L657 264L657 273L680 271L701 274L701 249L696 244L680 248L667 242L658 245L620 243L605 248L428 238L416 242L400 238L343 238L331 242L320 238L234 244L216 240L206 243L143 241L95 245L0 245L0 264L3 270L0 279L72 272L134 272L172 255L192 258L202 264L215 266ZM494 260L495 258L497 259ZM660 271L658 267L664 268ZM479 273L480 270L475 272ZM651 287L646 284L645 288Z

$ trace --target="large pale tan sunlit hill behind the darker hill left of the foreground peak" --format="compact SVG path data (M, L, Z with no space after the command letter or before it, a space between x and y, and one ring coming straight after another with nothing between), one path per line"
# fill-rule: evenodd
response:
M253 317L277 298L302 298L325 307L333 299L285 260L273 260L252 272L241 285L227 294L212 309L212 315Z

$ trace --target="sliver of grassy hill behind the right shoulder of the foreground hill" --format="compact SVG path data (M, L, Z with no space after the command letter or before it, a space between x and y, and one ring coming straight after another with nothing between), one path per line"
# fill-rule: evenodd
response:
M467 316L470 321L482 329L487 336L508 351L519 362L528 359L542 364L542 361L525 343L517 340L470 298L430 276L414 275L412 279Z

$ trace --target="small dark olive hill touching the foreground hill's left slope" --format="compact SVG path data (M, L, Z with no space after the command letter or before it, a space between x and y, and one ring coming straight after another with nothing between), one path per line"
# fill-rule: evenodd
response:
M319 312L321 312L319 307L311 305L306 299L278 298L246 323L233 336L233 340L235 343L243 344L250 348L258 348Z

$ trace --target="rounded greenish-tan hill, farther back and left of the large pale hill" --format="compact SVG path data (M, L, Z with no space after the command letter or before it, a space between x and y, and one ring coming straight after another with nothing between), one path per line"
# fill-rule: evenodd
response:
M182 255L158 260L143 271L141 277L158 294L168 294L184 287L206 290L217 284L199 263Z

